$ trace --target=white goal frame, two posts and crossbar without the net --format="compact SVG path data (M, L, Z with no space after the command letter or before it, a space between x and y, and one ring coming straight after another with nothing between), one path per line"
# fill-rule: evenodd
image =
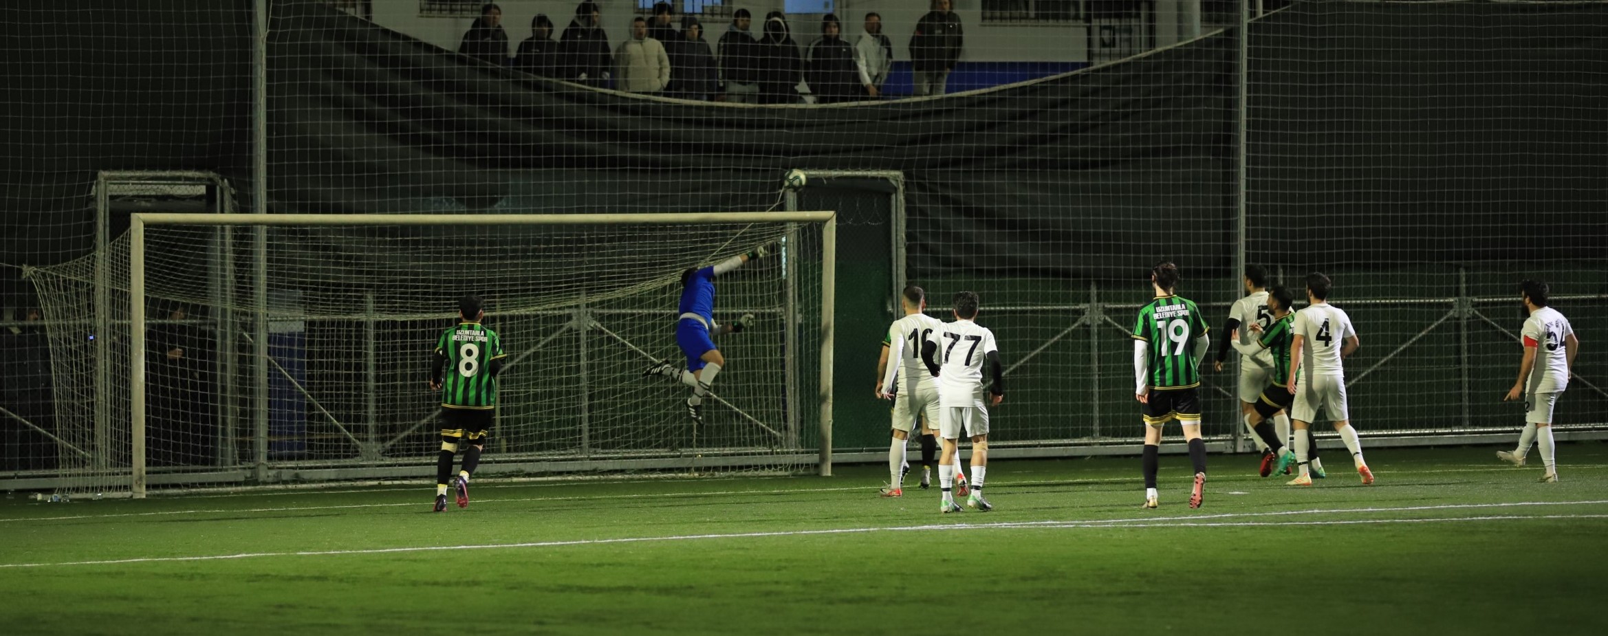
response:
M679 214L130 214L129 225L129 440L130 496L146 496L146 312L145 312L145 230L148 225L252 226L257 249L267 243L269 226L341 226L341 225L695 225L695 223L820 223L822 226L822 299L820 299L820 450L817 471L831 475L831 403L833 403L833 313L836 312L838 215L817 212L679 212ZM267 267L259 259L252 273L257 294L267 292ZM264 304L265 305L265 304ZM259 313L257 321L267 321ZM259 358L267 358L267 340L256 342ZM257 398L254 410L267 410L267 397ZM265 453L265 448L259 448ZM264 458L265 459L265 458ZM264 463L259 461L259 466Z

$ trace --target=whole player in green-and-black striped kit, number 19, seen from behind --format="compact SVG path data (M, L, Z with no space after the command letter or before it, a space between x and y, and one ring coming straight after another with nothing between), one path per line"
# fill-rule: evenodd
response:
M1172 294L1179 267L1163 262L1150 270L1156 299L1138 308L1134 323L1134 398L1145 418L1145 508L1156 508L1156 469L1161 426L1177 419L1195 463L1190 508L1200 508L1206 487L1206 442L1201 440L1201 360L1211 347L1206 318L1193 300Z

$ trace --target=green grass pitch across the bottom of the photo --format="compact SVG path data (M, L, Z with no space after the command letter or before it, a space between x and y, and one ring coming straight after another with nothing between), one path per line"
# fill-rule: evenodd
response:
M1315 488L1163 456L995 461L994 512L836 477L0 499L14 634L1605 634L1608 445L1341 451ZM1531 453L1531 461L1537 461ZM426 477L428 480L428 477Z

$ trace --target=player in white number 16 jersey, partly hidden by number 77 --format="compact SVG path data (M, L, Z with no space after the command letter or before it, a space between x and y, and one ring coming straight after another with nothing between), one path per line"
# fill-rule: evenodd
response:
M937 451L937 377L933 377L921 363L921 342L944 326L944 321L925 313L926 291L909 286L900 294L899 307L904 318L888 326L883 337L883 353L876 360L876 397L894 400L892 406L892 443L888 446L888 488L883 496L904 496L904 474L910 469L905 461L905 440L917 430L921 432L921 488L931 483L931 466L936 466ZM889 365L889 361L894 361ZM966 495L965 475L958 475L962 490Z

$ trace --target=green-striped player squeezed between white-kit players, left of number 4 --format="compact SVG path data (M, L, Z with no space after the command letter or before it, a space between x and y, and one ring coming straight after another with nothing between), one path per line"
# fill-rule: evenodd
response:
M1274 361L1274 368L1269 369L1265 390L1251 405L1251 413L1246 414L1251 430L1267 443L1267 450L1277 458L1277 464L1265 467L1262 477L1274 472L1285 474L1296 458L1294 450L1285 445L1285 440L1290 438L1290 403L1294 402L1286 377L1290 374L1290 345L1296 337L1293 304L1294 294L1290 287L1272 286L1267 294L1267 308L1272 312L1274 321L1265 329L1261 324L1251 324L1249 329L1257 334L1254 342L1233 342L1233 349L1240 353L1257 355L1267 352ZM1317 459L1317 442L1312 438L1311 430L1306 435L1307 443L1314 450L1311 464L1312 477L1327 477L1323 464Z

